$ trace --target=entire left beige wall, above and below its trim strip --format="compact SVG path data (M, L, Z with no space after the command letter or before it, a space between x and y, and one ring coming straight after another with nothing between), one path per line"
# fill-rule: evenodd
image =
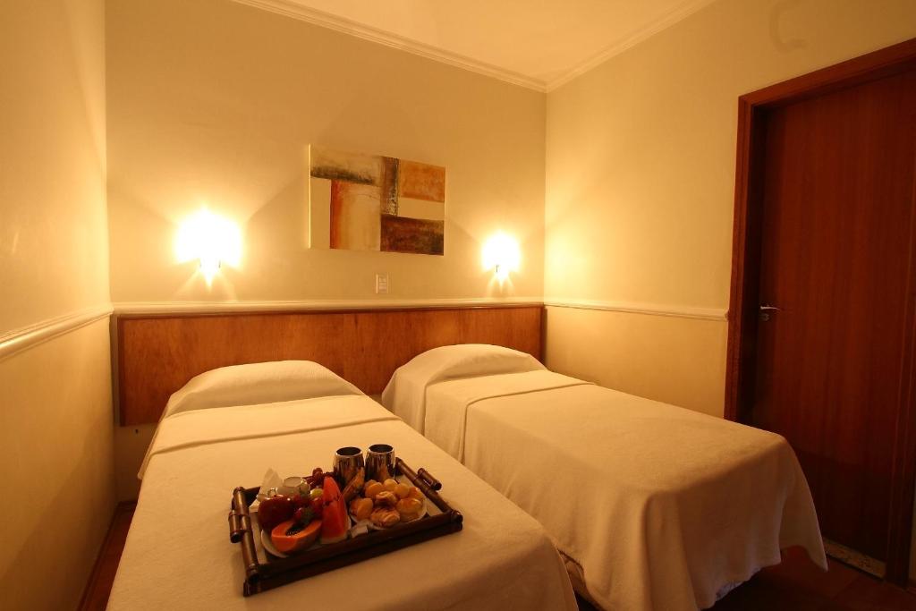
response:
M0 337L109 301L102 0L0 3ZM107 321L0 360L5 609L75 608L114 509Z

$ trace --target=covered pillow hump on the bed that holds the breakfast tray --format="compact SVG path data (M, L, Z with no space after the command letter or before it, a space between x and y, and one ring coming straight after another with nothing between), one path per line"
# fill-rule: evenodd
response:
M362 394L341 376L311 361L234 365L192 377L169 398L163 418L191 409Z

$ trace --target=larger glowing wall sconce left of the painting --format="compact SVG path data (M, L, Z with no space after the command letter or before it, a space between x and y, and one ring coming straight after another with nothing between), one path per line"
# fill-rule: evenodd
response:
M175 254L180 263L198 259L207 284L225 263L237 267L242 259L242 233L237 224L206 208L179 226Z

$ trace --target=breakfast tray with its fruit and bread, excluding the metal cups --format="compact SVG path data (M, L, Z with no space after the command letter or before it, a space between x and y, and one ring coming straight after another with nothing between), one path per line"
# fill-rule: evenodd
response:
M234 489L229 540L241 547L243 594L259 592L362 562L462 529L463 517L439 495L442 484L400 458L395 475L340 486L314 469L292 494ZM252 507L255 504L256 510Z

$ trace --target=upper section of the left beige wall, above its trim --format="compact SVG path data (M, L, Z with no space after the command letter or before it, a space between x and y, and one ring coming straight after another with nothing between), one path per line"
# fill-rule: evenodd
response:
M101 0L0 4L0 334L108 301Z

